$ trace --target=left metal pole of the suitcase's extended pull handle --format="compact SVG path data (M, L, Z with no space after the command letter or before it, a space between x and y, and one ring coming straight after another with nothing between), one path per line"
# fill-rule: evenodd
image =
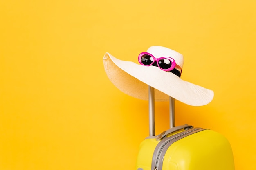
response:
M155 89L148 86L149 136L155 136Z

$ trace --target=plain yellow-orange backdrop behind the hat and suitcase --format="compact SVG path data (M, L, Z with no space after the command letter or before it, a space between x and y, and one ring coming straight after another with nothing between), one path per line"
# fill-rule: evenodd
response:
M256 1L1 0L0 170L133 170L148 102L120 92L105 52L184 55L182 79L213 101L175 102L176 125L222 133L236 170L256 169ZM156 133L168 102L156 103ZM220 153L221 154L221 153Z

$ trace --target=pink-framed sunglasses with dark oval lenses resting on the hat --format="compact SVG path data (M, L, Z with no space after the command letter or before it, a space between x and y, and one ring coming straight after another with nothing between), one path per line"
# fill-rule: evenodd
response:
M155 65L164 71L173 70L175 68L175 66L180 68L180 66L176 65L176 62L173 58L171 58L171 57L156 58L148 52L141 52L139 54L138 60L141 65L145 65L145 66ZM155 61L156 61L157 65L154 64Z

